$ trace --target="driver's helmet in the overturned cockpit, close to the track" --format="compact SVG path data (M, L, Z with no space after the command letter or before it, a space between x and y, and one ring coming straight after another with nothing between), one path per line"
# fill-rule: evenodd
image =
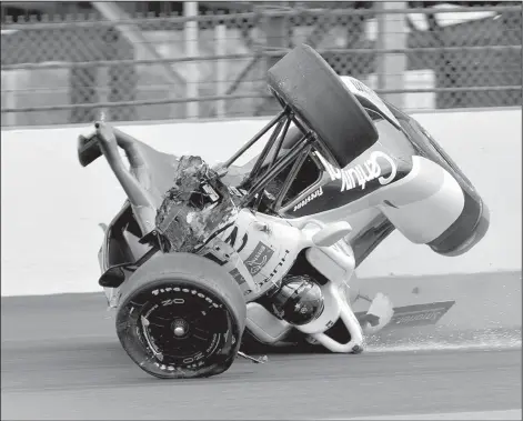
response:
M324 308L320 285L308 275L283 278L271 301L275 315L295 325L318 319Z

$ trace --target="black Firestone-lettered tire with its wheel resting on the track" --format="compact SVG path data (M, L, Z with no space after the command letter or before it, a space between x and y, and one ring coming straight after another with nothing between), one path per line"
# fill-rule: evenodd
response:
M231 367L247 307L240 287L220 265L189 253L157 254L120 291L118 338L142 370L162 379L192 379Z

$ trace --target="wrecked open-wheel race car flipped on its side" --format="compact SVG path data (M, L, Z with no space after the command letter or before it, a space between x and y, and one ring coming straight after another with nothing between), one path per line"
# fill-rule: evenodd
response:
M79 138L80 163L105 157L128 197L99 284L123 349L152 375L222 373L248 341L360 353L392 318L383 297L356 318L348 293L378 244L399 230L459 255L487 230L486 206L436 141L312 48L291 50L268 84L282 111L218 166L104 121Z

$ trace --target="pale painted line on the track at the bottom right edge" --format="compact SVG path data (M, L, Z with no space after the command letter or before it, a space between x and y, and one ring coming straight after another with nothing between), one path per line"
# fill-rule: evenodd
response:
M506 411L482 411L482 412L449 412L449 413L426 413L418 415L380 415L361 418L331 418L329 420L521 420L521 409Z

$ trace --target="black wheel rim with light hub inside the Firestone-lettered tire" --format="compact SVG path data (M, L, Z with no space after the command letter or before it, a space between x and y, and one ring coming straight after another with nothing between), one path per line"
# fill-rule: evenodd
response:
M213 294L184 284L155 288L145 294L138 328L161 364L198 368L221 351L232 320Z

